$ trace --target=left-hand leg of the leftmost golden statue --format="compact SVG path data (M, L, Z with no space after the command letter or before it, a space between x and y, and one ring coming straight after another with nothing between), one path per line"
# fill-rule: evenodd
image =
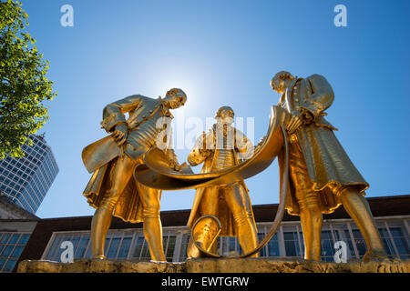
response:
M117 205L118 198L127 186L135 162L128 156L118 158L113 162L109 173L109 189L104 195L91 221L91 253L93 258L105 258L104 245L106 236L111 225L113 210Z

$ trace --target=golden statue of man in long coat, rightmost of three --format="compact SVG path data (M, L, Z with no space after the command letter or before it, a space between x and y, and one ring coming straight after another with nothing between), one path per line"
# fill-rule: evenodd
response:
M287 125L290 191L288 213L301 216L305 259L320 260L322 214L343 205L362 232L364 259L384 258L384 246L364 199L368 184L340 145L324 111L333 103L332 86L322 75L301 78L281 71L272 78L279 106L292 114ZM283 171L283 152L278 156Z

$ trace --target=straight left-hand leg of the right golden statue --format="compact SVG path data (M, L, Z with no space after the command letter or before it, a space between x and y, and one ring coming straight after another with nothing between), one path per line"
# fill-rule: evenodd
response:
M292 140L291 138L289 159L295 198L300 207L304 258L320 261L323 216L319 206L319 193L313 190L313 184L297 139Z

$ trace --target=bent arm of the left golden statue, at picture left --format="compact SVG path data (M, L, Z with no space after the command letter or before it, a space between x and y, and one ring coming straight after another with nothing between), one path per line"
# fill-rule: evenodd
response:
M143 100L142 95L130 95L116 102L110 103L103 109L102 128L112 133L117 125L126 124L125 113L134 110Z

